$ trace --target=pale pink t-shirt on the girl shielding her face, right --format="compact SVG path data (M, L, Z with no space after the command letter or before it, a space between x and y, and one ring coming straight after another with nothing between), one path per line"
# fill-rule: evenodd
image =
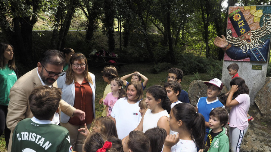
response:
M240 94L235 100L239 102L239 104L232 107L229 114L229 126L244 130L248 127L247 113L249 110L250 98L248 94Z

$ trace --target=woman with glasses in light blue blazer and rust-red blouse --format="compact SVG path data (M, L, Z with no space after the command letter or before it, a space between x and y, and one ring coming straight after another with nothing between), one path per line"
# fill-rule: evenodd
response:
M74 151L81 152L85 136L78 132L79 128L90 128L95 118L95 76L88 71L86 57L82 53L74 53L68 69L58 78L58 88L62 89L62 99L76 109L86 113L86 119L80 121L78 117L69 117L61 112L61 126L70 132L70 143Z

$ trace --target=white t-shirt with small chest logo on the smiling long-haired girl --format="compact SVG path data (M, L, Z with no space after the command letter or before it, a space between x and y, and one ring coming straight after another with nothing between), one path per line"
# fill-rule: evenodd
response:
M120 98L115 103L111 117L116 120L116 128L120 139L129 135L138 126L141 118L138 106L139 101L135 104L130 104L127 99Z

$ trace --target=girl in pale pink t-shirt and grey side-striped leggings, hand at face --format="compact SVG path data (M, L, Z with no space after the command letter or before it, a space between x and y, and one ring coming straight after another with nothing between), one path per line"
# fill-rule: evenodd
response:
M242 140L248 131L249 90L241 77L233 78L230 86L231 90L226 101L226 107L232 107L229 114L229 141L231 151L239 152Z

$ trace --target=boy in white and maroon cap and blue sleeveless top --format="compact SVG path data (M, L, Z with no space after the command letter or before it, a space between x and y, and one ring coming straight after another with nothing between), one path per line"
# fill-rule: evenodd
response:
M204 141L207 139L207 135L210 130L209 126L209 114L210 112L217 107L224 107L224 105L218 100L217 95L221 93L223 88L222 82L218 78L214 78L209 82L204 82L208 86L207 88L207 97L201 97L198 99L196 105L196 111L201 113L205 119L206 134Z

